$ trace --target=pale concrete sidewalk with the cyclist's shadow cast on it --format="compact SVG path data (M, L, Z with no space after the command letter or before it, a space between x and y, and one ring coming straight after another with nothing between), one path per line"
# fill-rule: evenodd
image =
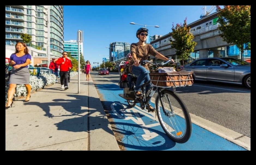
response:
M118 150L111 125L92 79L71 77L14 101L5 110L5 150Z

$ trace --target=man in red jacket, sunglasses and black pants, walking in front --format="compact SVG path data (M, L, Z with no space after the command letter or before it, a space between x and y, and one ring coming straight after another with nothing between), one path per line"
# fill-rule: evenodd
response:
M67 58L67 55L67 52L62 52L62 57L58 58L56 61L56 64L59 65L60 69L59 76L61 77L61 88L65 88L65 90L68 89L68 70L72 67L71 61Z

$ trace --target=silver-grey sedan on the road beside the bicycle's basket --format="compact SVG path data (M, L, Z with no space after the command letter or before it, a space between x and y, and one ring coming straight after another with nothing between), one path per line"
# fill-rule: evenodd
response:
M231 57L200 58L184 66L194 80L245 85L251 89L251 63Z

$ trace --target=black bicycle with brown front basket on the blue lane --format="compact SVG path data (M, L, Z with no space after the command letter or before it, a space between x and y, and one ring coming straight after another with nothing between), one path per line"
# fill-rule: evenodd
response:
M141 61L141 64L149 63L155 66L163 66L170 63L168 60L165 63L152 63L150 61ZM172 73L149 73L150 81L141 86L143 96L137 98L135 92L126 86L124 93L119 94L122 98L126 99L130 107L134 107L137 103L140 108L144 110L147 106L149 110L149 101L153 94L157 91L155 98L155 109L159 123L167 134L167 136L177 143L185 143L189 140L192 132L192 124L189 111L184 102L173 91L168 90L172 87L185 87L193 84L192 72L172 72ZM132 76L132 89L135 87L137 76ZM145 94L145 86L151 83L151 88Z

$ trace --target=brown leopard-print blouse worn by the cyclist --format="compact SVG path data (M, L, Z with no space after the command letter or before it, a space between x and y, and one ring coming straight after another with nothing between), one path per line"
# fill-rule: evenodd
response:
M145 46L139 46L136 43L132 43L130 52L131 52L131 54L132 54L132 52L134 52L136 54L137 59L140 61L147 60L147 58L150 55L155 57L156 54L158 54L158 51L156 51L153 48L153 46L148 43ZM131 73L132 73L132 66L134 66L133 60L131 60L130 65L129 65L129 71ZM147 67L147 64L143 65L143 67L145 67L147 70L149 70L149 68Z

